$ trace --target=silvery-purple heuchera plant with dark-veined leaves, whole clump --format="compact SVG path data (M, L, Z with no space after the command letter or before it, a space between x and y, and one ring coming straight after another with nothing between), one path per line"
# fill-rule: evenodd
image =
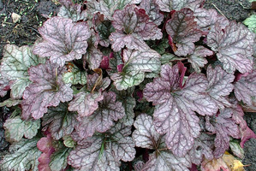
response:
M228 171L224 152L243 156L253 32L203 0L60 3L33 46L4 47L1 170Z

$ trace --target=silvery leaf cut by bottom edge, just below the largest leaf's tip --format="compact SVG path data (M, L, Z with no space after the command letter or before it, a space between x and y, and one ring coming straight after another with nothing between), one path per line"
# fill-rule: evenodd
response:
M149 160L142 168L143 171L155 170L177 170L189 171L191 162L189 156L179 157L170 152L170 150L162 150L158 155L154 152L149 156Z

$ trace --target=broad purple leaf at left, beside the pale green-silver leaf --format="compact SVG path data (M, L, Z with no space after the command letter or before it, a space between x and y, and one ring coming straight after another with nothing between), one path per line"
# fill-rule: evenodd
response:
M23 93L21 103L22 117L28 119L41 118L50 106L72 99L73 91L70 84L64 84L62 74L65 68L54 68L51 62L29 68L29 79L33 82Z

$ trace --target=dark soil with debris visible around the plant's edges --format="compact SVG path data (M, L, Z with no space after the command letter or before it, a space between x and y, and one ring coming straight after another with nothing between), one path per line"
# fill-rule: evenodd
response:
M240 22L254 12L250 9L251 4L247 0L205 0L205 8L217 9L221 15L226 16L229 20ZM47 16L57 15L57 11L58 6L51 0L0 0L0 59L3 57L5 44L32 45L39 38L37 29L47 20ZM21 15L21 20L14 23L11 17L13 13ZM2 100L0 99L0 101ZM0 108L1 113L5 110ZM256 113L248 113L245 118L248 127L256 133ZM3 133L3 129L0 125L1 133ZM0 144L2 140L0 139ZM246 167L246 170L255 171L256 139L247 141L244 150L243 164L251 164Z

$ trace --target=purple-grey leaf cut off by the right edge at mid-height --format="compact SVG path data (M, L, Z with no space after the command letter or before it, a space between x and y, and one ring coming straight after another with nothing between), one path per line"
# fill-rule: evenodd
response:
M249 106L256 106L256 70L235 82L235 97Z

